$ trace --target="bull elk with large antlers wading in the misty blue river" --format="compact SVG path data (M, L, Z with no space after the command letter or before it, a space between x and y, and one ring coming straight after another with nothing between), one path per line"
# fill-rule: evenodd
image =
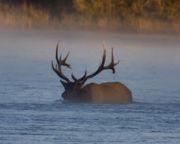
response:
M58 55L58 44L56 46L56 65L52 61L53 71L60 77L65 91L62 94L64 100L73 102L91 102L91 103L131 103L132 93L131 91L120 82L106 82L101 84L89 83L85 85L85 82L101 73L103 70L112 70L115 73L115 66L119 64L114 62L113 49L111 53L111 62L109 65L105 65L106 50L104 49L101 64L97 70L92 74L87 74L85 70L84 75L81 78L76 78L72 73L70 80L62 71L62 66L71 68L68 64L67 58L69 53L62 58L62 55Z

